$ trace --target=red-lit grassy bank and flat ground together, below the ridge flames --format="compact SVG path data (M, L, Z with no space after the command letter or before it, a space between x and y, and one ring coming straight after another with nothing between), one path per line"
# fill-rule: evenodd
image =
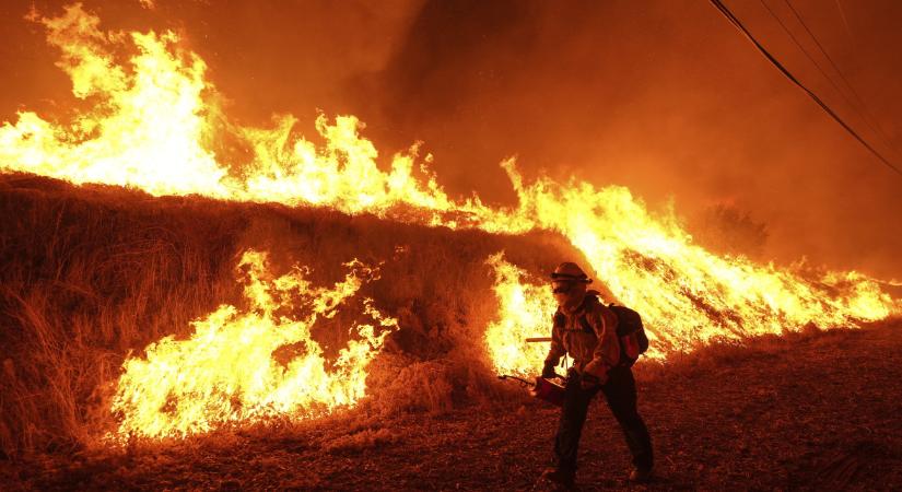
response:
M484 258L539 272L578 255L554 236L494 236L374 216L107 187L0 179L0 484L4 489L528 489L557 411L493 379L480 327L496 307ZM378 262L364 294L398 316L374 397L304 423L167 445L92 447L129 353L239 297L236 255L335 281ZM330 270L331 269L331 270ZM353 316L350 313L349 316ZM336 325L319 327L336 337ZM768 337L637 368L659 480L652 489L902 487L902 325ZM625 487L626 450L596 405L584 489Z

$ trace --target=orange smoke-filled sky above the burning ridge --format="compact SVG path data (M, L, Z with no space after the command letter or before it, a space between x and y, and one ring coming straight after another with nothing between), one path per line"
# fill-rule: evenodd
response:
M804 36L785 3L765 1ZM286 112L307 121L316 108L352 113L384 156L423 140L455 194L513 200L495 164L518 155L527 177L626 185L653 207L672 200L690 220L718 206L748 212L768 225L762 255L781 262L808 256L902 278L902 178L706 2L113 3L86 7L106 26L184 32L248 122ZM760 2L728 3L881 145ZM834 2L792 3L902 148L902 3L841 0L847 23ZM30 4L3 7L15 39L0 51L4 119L20 104L66 101L68 82L43 33L19 21Z

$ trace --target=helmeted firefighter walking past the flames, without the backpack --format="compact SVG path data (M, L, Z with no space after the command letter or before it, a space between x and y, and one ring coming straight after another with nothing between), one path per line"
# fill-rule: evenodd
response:
M565 399L554 437L553 467L541 481L572 488L576 475L576 452L589 402L600 390L623 431L633 456L630 480L647 482L652 476L652 440L636 410L633 372L620 362L617 315L587 291L591 280L573 262L561 263L551 274L558 311L551 332L551 349L542 377L555 376L554 367L569 354L573 365L567 372Z

